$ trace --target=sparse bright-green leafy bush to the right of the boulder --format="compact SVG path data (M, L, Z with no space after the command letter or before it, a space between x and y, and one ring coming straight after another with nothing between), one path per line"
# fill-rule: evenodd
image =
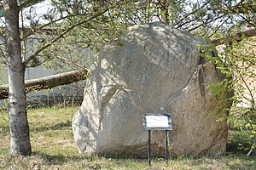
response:
M229 99L233 103L229 116L230 125L238 127L241 133L247 133L250 155L256 147L256 44L255 38L241 39L219 48L218 56L208 58L225 77L222 82L214 83L208 88L212 89L216 99L224 93L234 94ZM229 105L226 108L229 109Z

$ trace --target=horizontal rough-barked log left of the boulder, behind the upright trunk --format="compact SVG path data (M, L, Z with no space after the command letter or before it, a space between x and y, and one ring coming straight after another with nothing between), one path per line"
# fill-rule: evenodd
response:
M79 82L84 80L87 76L86 70L69 71L57 75L42 77L38 79L26 80L26 94L38 90L54 88L57 86ZM9 87L4 85L0 87L0 99L8 99Z

